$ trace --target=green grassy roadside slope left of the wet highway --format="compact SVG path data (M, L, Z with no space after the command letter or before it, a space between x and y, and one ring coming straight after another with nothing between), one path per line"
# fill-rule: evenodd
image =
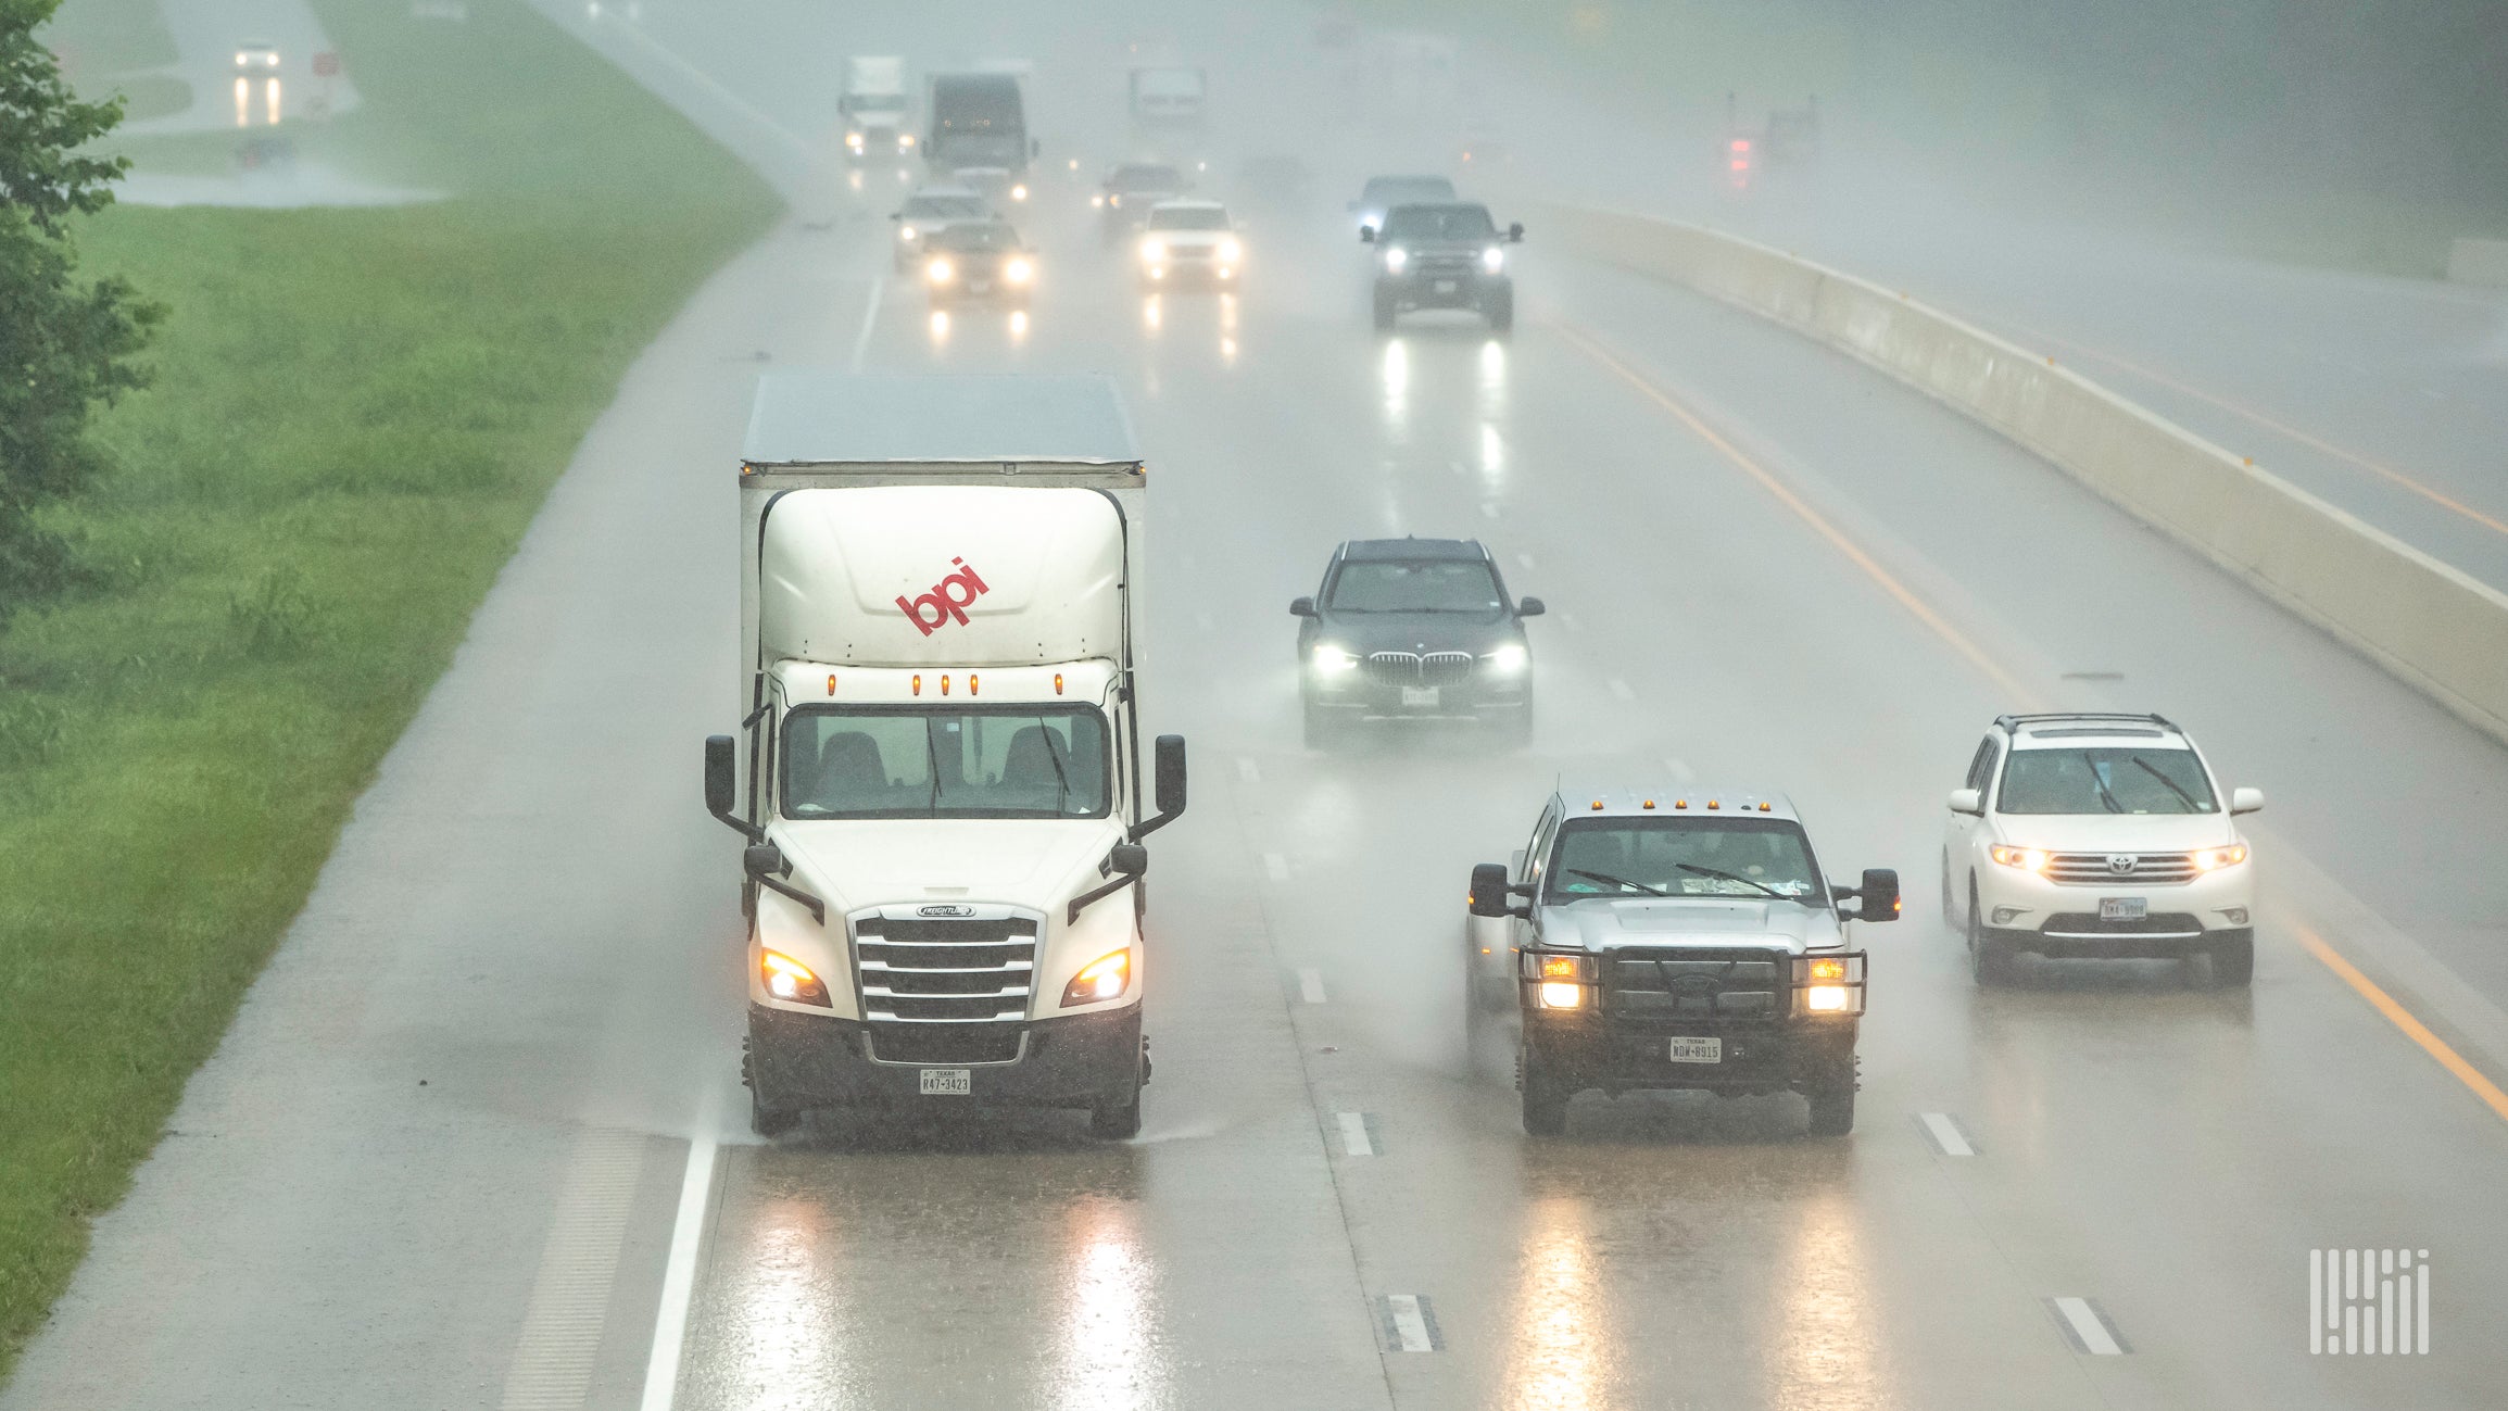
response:
M619 373L775 213L517 0L319 10L331 138L451 200L80 233L173 313L63 516L93 584L0 637L0 1373Z

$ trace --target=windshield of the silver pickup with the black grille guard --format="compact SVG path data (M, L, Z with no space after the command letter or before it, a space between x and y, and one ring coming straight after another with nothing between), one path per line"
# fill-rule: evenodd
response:
M1773 817L1598 817L1560 825L1550 900L1778 897L1826 905L1803 825Z

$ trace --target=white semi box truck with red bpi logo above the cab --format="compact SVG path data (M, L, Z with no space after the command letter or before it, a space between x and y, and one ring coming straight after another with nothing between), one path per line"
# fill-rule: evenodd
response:
M762 1135L915 1103L1139 1130L1141 840L1184 812L1184 739L1141 734L1144 496L1106 378L760 378L747 717L705 807L747 840Z

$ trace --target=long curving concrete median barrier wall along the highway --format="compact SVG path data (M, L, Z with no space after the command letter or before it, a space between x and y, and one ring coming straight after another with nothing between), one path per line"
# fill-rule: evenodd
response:
M1846 351L2109 501L2508 742L2508 594L2099 383L1896 291L1703 226L1545 208L1568 248Z

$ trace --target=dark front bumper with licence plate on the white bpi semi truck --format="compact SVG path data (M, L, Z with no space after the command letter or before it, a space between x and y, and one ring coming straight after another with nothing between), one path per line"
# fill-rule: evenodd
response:
M1091 1108L1129 1100L1139 1068L1141 1005L1021 1025L863 1023L750 1005L750 1083L767 1108ZM925 1095L925 1070L966 1070L968 1093Z

